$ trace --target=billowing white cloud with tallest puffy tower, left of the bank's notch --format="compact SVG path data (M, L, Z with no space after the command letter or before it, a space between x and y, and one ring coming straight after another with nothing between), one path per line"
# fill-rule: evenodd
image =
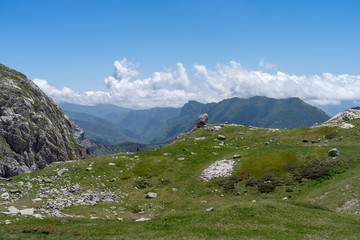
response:
M182 63L177 64L177 70L154 72L143 80L133 79L137 75L135 66L124 58L115 62L113 76L105 78L104 83L116 101L130 107L179 106L192 97Z

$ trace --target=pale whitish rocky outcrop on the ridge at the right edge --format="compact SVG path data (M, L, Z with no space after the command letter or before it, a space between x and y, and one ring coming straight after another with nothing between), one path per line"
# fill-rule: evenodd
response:
M345 111L336 114L334 117L330 118L329 120L327 120L324 123L315 125L315 127L339 126L340 128L349 129L349 128L353 128L355 126L350 123L345 123L345 121L350 121L350 120L358 119L358 118L360 118L360 109L350 108L350 109L346 109Z

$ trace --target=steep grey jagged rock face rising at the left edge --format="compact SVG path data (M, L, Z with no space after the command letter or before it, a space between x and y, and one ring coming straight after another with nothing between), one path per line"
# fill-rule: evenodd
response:
M24 74L0 64L0 176L85 157L59 106Z

